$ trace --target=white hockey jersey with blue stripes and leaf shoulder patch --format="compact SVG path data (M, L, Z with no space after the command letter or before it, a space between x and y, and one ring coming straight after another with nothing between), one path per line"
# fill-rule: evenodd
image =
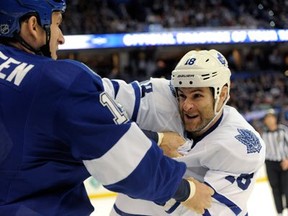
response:
M115 83L116 91L110 91L110 94L141 128L184 133L177 100L168 80L151 79L141 85L137 82L131 85L121 81ZM106 84L110 85L109 82ZM130 91L131 97L122 97L127 95L127 91ZM247 215L247 201L255 185L257 171L265 160L265 145L258 132L235 108L225 106L219 121L199 139L187 142L189 144L185 146L185 156L175 160L186 163L187 177L192 176L214 189L212 207L204 215ZM169 214L153 202L119 194L111 215L197 214L182 205Z

